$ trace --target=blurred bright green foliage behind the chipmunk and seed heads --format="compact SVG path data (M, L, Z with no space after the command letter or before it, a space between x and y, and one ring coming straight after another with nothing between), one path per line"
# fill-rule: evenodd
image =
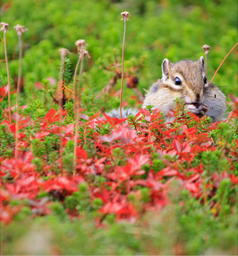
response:
M127 22L126 28L126 68L145 58L143 67L138 70L138 88L142 93L161 77L161 62L165 57L172 62L197 60L204 55L204 44L211 47L208 56L208 79L211 79L237 42L237 7L237 0L2 0L1 22L9 24L6 36L10 76L16 81L19 48L13 26L17 24L28 28L23 36L25 97L22 103L40 96L34 86L37 81L47 77L58 80L59 48L71 51L69 59L74 74L78 58L75 41L86 39L91 59L86 60L83 84L85 93L94 97L113 77L112 72L105 72L100 65L113 60L113 51L120 60L123 40L120 13L127 10L133 19ZM3 42L0 58L4 59ZM229 93L238 95L237 67L235 49L213 80L227 96ZM0 68L2 85L7 74L5 63L1 62ZM120 81L115 89L119 87ZM135 92L126 88L123 100L132 95ZM106 109L116 106L119 98L114 97L112 101ZM100 107L104 102L96 100L95 103ZM130 105L133 103L129 100Z

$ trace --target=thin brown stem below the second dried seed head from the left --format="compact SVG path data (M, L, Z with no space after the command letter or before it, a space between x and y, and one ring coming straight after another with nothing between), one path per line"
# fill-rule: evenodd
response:
M16 87L16 143L15 143L15 159L18 158L17 144L19 141L19 103L20 103L20 82L22 78L22 35L19 35L19 73Z

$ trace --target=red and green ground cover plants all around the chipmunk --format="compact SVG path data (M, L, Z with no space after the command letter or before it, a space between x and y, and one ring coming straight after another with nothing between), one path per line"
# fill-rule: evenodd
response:
M43 18L35 31L25 20L28 32L22 35L23 45L32 40L23 54L22 77L18 76L18 91L22 85L20 97L16 97L13 89L19 68L13 47L16 31L9 29L6 33L11 77L7 78L7 71L1 72L1 254L236 255L238 97L234 51L237 50L225 60L228 64L213 81L229 81L230 86L223 91L226 95L233 93L228 96L228 111L222 121L212 123L208 117L196 117L184 110L180 99L170 112L175 117L170 126L165 124L159 109L139 108L143 88L149 87L145 86L146 81L158 79L153 62L164 58L164 54L173 58L175 53L178 58L193 54L196 59L205 42L214 42L213 36L209 42L199 39L198 48L174 38L178 34L172 30L176 27L173 11L186 10L187 14L181 17L182 33L191 33L194 28L196 34L203 27L193 19L203 10L219 16L228 13L235 2L179 1L176 5L171 1L170 5L164 1L164 5L157 5L155 1L147 4L138 1L134 6L137 16L132 15L126 27L129 35L135 35L141 24L151 30L155 28L157 18L149 16L155 10L159 10L159 21L167 21L171 33L164 39L162 25L158 25L159 39L149 30L148 38L144 32L138 33L144 46L134 37L130 40L126 36L129 42L123 74L119 54L123 30L113 29L120 24L120 12L116 22L113 15L126 3L89 3L78 8L81 14L83 10L86 12L80 19L80 33L85 33L86 42L77 41L78 36L74 38L79 33L78 26L71 27L78 15L74 1L67 3L71 5L68 9L61 1L60 4L51 1L46 7L52 13L47 21L45 13L36 11L42 7L38 1L33 6L33 16L29 13L30 0L25 4L4 1L1 7L5 12L3 18L9 19L6 20L9 23L16 10L17 22L27 14L32 22L36 22L37 16ZM52 12L56 4L59 9ZM87 7L94 9L90 17ZM60 8L68 12L65 27ZM107 10L107 15L103 10ZM99 19L102 19L98 23L100 33L95 28ZM209 77L215 71L213 65L217 67L236 43L234 15L223 14L220 19L227 21L225 28L216 27L217 22L208 19L212 25L204 29L212 34L213 29L217 29L216 33L228 31L220 44L213 43L218 49L211 48L208 54ZM202 18L202 24L208 20ZM103 32L105 29L109 31ZM44 39L39 37L42 31ZM109 37L112 39L109 42L115 42L114 49L106 45ZM97 45L95 38L99 38L101 45ZM75 56L62 48L61 56L58 49L54 51L62 46ZM184 53L176 51L181 46L186 48ZM91 57L87 61L83 60L88 54L86 48ZM46 63L52 64L51 70ZM82 63L86 64L84 72ZM0 64L5 70L6 63ZM117 89L122 77L128 86L123 92L123 105L138 107L139 112L126 119L111 118L105 110L119 107Z

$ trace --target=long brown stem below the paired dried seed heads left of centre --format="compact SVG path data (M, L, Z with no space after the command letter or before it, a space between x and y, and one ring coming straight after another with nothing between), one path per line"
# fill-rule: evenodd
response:
M80 110L80 89L81 89L81 79L82 79L82 74L83 74L83 54L80 57L80 74L79 74L79 80L78 80L78 85L77 85L77 108L76 108L76 118L75 118L75 135L74 135L74 171L73 175L75 175L76 172L76 152L77 152L77 138L79 135L79 110Z

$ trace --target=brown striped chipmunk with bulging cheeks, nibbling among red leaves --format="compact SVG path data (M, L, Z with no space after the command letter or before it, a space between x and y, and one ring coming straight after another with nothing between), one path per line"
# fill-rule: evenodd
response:
M175 108L176 98L184 99L185 109L199 118L208 115L213 122L223 118L226 98L218 87L208 83L203 57L198 61L181 60L178 63L170 63L164 59L162 77L150 87L142 108L152 105L153 109L160 109L165 115L165 121L170 123L174 118L167 114L170 109ZM131 114L135 115L136 110L123 110L123 118ZM118 109L112 110L109 115L120 118Z

